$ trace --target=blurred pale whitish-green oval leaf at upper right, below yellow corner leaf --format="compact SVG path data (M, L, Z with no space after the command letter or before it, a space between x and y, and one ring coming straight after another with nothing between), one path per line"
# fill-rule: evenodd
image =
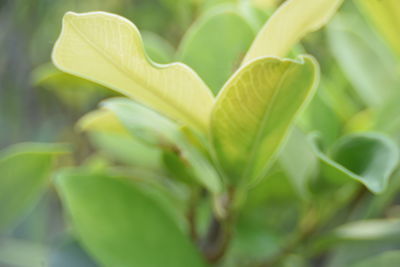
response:
M362 100L383 105L400 84L395 58L354 13L337 16L327 32L334 57Z

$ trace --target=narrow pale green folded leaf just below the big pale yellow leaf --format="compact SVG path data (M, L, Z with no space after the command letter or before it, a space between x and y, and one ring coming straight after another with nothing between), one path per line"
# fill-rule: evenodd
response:
M221 191L218 173L205 155L187 140L181 127L129 99L110 99L103 102L103 105L113 111L134 136L148 144L176 153L193 168L198 182L213 193Z

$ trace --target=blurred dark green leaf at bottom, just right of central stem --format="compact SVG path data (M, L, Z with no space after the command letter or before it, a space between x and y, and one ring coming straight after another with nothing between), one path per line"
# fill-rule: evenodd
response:
M285 172L279 167L268 172L247 194L224 266L246 266L278 253L297 225L301 204Z

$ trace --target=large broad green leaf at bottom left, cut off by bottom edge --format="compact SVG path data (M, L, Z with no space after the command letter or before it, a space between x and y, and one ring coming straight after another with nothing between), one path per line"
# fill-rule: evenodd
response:
M104 266L205 266L157 199L127 179L67 171L57 189L89 253Z

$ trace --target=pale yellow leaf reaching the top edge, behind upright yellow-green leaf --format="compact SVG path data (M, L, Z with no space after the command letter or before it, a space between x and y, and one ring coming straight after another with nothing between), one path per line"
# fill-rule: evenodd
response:
M267 21L242 64L263 56L284 57L307 33L324 26L343 0L288 0Z

